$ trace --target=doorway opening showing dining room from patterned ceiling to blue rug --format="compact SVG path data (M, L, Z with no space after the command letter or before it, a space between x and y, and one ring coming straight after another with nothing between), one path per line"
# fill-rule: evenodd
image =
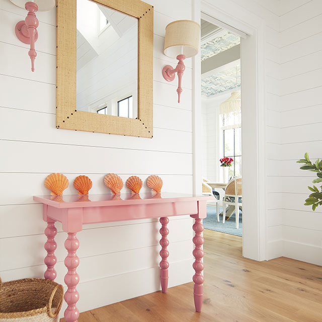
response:
M205 229L243 232L240 37L201 19L202 189Z

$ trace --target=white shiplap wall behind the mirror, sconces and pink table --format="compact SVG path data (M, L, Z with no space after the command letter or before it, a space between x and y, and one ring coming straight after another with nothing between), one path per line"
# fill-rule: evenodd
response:
M72 182L79 174L93 180L93 193L108 192L103 178L109 172L124 181L131 175L145 180L157 174L163 178L164 191L178 187L180 192L193 191L191 59L186 61L180 104L177 85L168 84L161 73L165 64L176 64L163 55L165 27L173 20L191 19L192 1L147 2L154 6L153 139L55 129L55 10L37 14L38 55L32 73L28 45L14 34L15 24L26 12L0 0L0 276L4 281L43 276L45 223L42 206L32 196L48 194L43 182L50 173L67 176L66 194L75 193ZM191 224L187 217L169 224L170 286L191 281ZM57 228L57 281L63 283L66 233L61 225ZM159 289L158 229L153 219L87 225L77 234L81 311Z

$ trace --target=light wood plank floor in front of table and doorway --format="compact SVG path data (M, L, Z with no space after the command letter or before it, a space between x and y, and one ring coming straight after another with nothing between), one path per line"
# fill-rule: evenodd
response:
M201 313L189 283L81 313L78 322L322 321L322 267L287 258L256 262L241 256L241 237L205 229L204 238Z

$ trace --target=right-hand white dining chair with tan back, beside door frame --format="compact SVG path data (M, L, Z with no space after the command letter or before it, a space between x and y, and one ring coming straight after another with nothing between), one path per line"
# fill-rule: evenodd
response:
M222 200L222 222L225 222L226 205L235 206L236 228L239 227L239 207L242 207L243 189L241 184L241 177L234 177L227 183L225 189L225 196Z

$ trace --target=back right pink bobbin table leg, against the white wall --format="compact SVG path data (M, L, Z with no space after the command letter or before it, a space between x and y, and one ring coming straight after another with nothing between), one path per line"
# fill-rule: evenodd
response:
M163 293L167 293L168 290L168 279L169 279L169 262L167 261L167 258L169 257L169 240L167 238L169 234L169 229L167 228L167 224L169 223L168 217L161 217L160 223L162 223L162 227L160 228L160 234L162 235L162 238L160 239L160 245L162 246L162 249L160 250L160 256L162 258L162 261L160 262L160 281L161 281L161 288Z

